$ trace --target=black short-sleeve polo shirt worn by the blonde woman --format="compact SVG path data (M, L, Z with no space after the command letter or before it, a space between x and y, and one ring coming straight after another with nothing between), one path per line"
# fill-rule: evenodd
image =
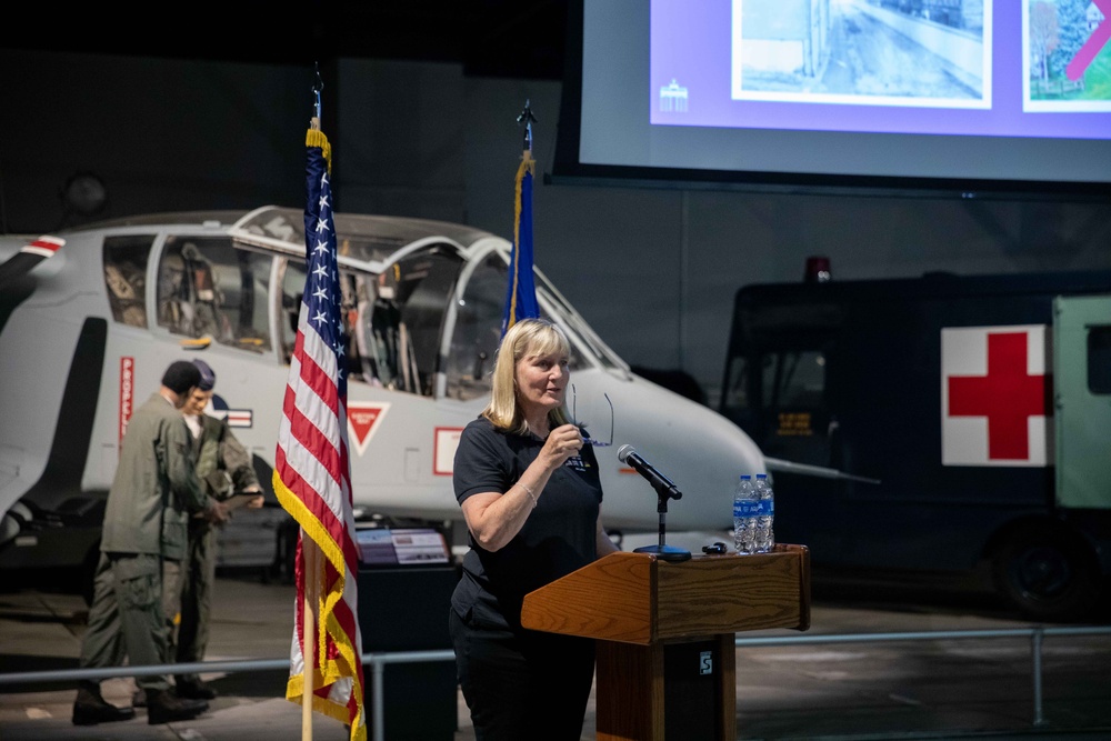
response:
M480 417L470 422L456 451L453 484L460 503L471 494L508 492L536 460L543 440L512 434ZM524 594L598 558L594 529L602 502L598 461L590 445L552 472L521 531L502 549L483 550L473 538L452 604L467 615L477 601L518 624ZM492 615L491 615L492 617Z

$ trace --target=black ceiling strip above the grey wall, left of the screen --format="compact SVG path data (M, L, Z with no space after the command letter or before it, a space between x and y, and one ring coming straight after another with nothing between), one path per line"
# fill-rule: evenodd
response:
M462 63L476 77L562 79L569 0L342 0L146 6L28 3L4 48L274 64L339 58ZM284 4L284 3L282 3ZM212 7L210 7L212 6ZM38 8L38 10L36 9ZM34 20L33 16L40 19ZM152 18L158 18L157 21ZM14 30L9 29L9 30Z

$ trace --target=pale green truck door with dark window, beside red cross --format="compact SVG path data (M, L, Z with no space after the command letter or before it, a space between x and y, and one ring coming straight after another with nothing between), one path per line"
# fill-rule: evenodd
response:
M1057 503L1111 509L1111 297L1053 300Z

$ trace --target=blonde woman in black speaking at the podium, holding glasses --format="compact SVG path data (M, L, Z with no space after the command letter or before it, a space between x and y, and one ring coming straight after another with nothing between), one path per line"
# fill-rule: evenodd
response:
M540 319L502 338L490 403L463 430L453 484L470 535L449 625L477 741L577 741L592 639L521 627L524 595L618 550L602 529L593 449L563 403L563 332Z

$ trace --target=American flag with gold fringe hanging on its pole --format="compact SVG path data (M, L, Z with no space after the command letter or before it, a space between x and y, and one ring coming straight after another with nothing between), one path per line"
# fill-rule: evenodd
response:
M286 698L303 701L306 668L312 709L367 738L362 637L359 632L351 462L347 439L346 337L340 321L337 240L332 221L331 148L316 128L306 138L308 200L304 241L308 268L297 343L278 431L273 484L282 507L301 525L297 547L297 608ZM306 542L306 537L311 542ZM307 559L319 549L322 558ZM316 573L307 564L318 563ZM311 568L311 567L310 567ZM316 655L306 657L304 605L313 610Z

